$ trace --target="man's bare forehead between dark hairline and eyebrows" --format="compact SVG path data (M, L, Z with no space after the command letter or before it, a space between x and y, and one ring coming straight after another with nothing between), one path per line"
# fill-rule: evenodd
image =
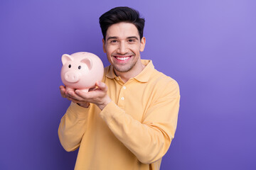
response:
M139 38L139 31L133 23L115 23L107 28L106 38L127 38L131 36L136 36Z

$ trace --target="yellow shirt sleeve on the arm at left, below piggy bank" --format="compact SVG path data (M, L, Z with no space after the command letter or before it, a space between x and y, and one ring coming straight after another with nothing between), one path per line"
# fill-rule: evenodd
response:
M80 146L85 133L89 108L82 108L71 102L70 107L60 120L58 137L63 148L70 152Z

